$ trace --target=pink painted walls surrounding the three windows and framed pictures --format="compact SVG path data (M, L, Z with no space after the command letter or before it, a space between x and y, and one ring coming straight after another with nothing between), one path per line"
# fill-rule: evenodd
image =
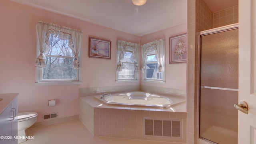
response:
M82 46L82 84L64 86L35 86L36 60L36 23L38 21L58 24L84 31ZM186 32L182 30L166 30L142 38L70 18L61 14L32 8L9 0L0 0L0 93L19 92L18 112L38 112L38 121L42 114L58 112L59 117L78 114L78 89L102 86L132 85L134 83L116 83L116 40L139 43L149 42L164 35L169 36ZM88 57L89 36L112 41L111 60ZM168 46L168 41L166 41ZM167 47L166 47L167 48ZM166 61L168 57L166 57ZM175 77L183 77L186 64L166 64L166 84L157 85L186 90L186 81ZM171 69L175 69L172 70ZM170 70L168 72L168 70ZM168 74L172 76L167 76ZM182 74L182 76L180 76ZM186 76L186 75L185 75ZM175 78L172 80L172 78ZM170 80L169 80L170 79ZM176 81L178 79L178 81ZM151 84L152 85L152 84ZM47 106L48 99L57 99L57 105Z

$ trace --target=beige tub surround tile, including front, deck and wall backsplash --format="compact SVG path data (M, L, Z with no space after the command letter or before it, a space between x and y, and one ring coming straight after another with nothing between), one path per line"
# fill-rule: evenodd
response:
M142 91L172 96L174 98L186 98L185 90L160 88L154 86L110 86L100 88L81 88L80 120L94 136L106 136L114 138L129 138L139 140L153 140L162 142L186 142L186 120L182 120L182 139L152 138L143 136L143 118L186 118L186 102L176 104L170 108L150 108L142 106L117 106L106 105L94 96L103 93L121 93ZM176 115L176 112L180 114ZM181 116L182 115L182 116ZM89 122L90 121L90 122Z

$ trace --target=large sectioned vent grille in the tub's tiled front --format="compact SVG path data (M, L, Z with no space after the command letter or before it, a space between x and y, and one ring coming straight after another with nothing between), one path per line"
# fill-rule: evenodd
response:
M182 138L182 119L143 118L144 136Z

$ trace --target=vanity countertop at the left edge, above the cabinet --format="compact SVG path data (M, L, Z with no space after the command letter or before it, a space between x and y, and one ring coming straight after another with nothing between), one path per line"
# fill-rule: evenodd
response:
M0 101L0 114L12 102L12 100L18 95L19 95L19 93L0 94L0 98L3 99Z

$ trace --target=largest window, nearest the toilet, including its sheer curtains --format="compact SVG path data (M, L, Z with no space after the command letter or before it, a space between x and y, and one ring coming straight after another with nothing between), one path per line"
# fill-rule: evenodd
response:
M38 22L36 30L39 54L35 64L36 83L81 83L82 32L44 22Z

